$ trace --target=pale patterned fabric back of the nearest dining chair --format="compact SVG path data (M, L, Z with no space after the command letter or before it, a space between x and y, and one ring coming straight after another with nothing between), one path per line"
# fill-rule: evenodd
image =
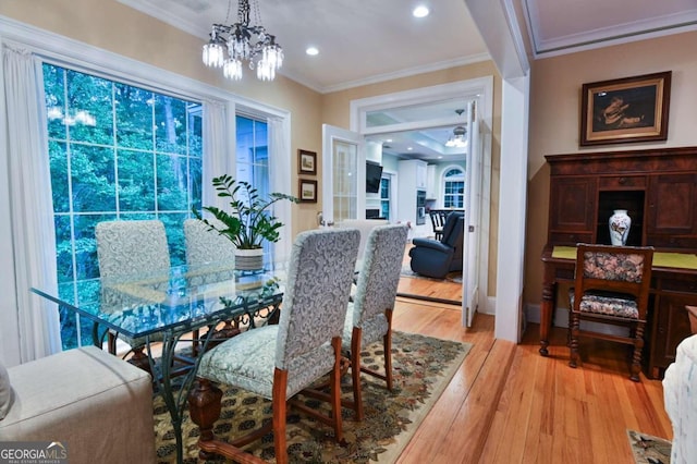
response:
M341 337L359 242L356 229L311 230L295 239L276 344L279 369Z

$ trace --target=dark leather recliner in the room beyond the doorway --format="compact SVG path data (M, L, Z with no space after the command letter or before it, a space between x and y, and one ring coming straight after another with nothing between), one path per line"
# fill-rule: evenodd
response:
M443 237L414 239L409 249L412 270L435 279L443 279L448 272L462 270L462 241L465 230L465 213L451 212L443 225Z

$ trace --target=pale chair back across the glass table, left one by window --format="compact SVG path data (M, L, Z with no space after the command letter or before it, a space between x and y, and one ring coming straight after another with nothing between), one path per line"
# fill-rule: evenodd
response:
M99 222L95 237L102 278L169 272L170 252L161 221Z

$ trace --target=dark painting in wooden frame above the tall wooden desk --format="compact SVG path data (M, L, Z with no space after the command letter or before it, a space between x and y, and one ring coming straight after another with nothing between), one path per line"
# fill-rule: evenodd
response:
M580 145L665 141L671 71L584 84Z

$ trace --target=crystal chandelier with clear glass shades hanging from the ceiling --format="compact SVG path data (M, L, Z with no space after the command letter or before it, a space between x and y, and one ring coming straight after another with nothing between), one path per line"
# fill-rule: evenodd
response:
M228 3L228 15L230 14ZM254 9L256 25L249 24ZM228 22L225 16L225 23ZM204 64L222 68L225 77L240 81L242 63L257 71L257 78L273 81L276 71L283 64L283 49L276 42L276 36L268 34L261 25L258 0L239 0L237 22L231 25L213 24L210 40L204 46Z

